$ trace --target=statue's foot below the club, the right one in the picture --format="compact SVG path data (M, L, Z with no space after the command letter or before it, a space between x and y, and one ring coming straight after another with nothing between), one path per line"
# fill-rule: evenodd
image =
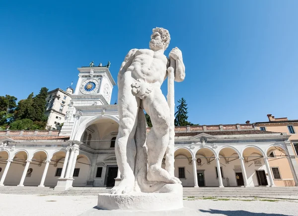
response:
M147 173L149 181L166 182L170 184L181 184L180 179L172 177L166 170L161 167L150 166Z

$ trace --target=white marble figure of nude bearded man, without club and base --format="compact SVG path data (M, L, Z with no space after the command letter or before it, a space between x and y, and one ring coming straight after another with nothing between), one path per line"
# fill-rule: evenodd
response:
M168 30L152 30L150 49L132 49L125 57L118 73L119 132L115 144L121 182L112 194L130 193L134 189L134 168L138 111L144 109L150 116L152 128L147 136L147 180L165 183L181 183L161 168L162 158L169 144L170 111L160 86L167 77L170 60L163 54L170 42ZM183 81L185 67L182 53L176 47L169 53L176 62L175 81Z

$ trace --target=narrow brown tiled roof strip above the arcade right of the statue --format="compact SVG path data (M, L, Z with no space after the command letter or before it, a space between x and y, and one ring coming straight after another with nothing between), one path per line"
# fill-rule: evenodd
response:
M279 132L271 132L271 131L258 131L258 130L250 130L250 131L213 131L213 132L182 132L175 133L175 137L193 137L198 134L209 134L212 136L220 136L220 135L247 135L247 134L280 134Z

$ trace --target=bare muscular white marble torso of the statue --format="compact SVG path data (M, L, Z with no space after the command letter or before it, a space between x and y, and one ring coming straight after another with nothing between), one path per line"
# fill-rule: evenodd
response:
M141 82L154 83L160 87L166 75L167 58L161 53L149 49L137 50L132 64L127 71L132 77Z

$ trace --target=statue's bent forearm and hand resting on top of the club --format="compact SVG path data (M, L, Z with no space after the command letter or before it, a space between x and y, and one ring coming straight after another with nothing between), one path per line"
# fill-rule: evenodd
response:
M169 53L169 58L176 62L175 81L182 82L185 77L185 66L183 64L182 52L177 47L173 48Z

